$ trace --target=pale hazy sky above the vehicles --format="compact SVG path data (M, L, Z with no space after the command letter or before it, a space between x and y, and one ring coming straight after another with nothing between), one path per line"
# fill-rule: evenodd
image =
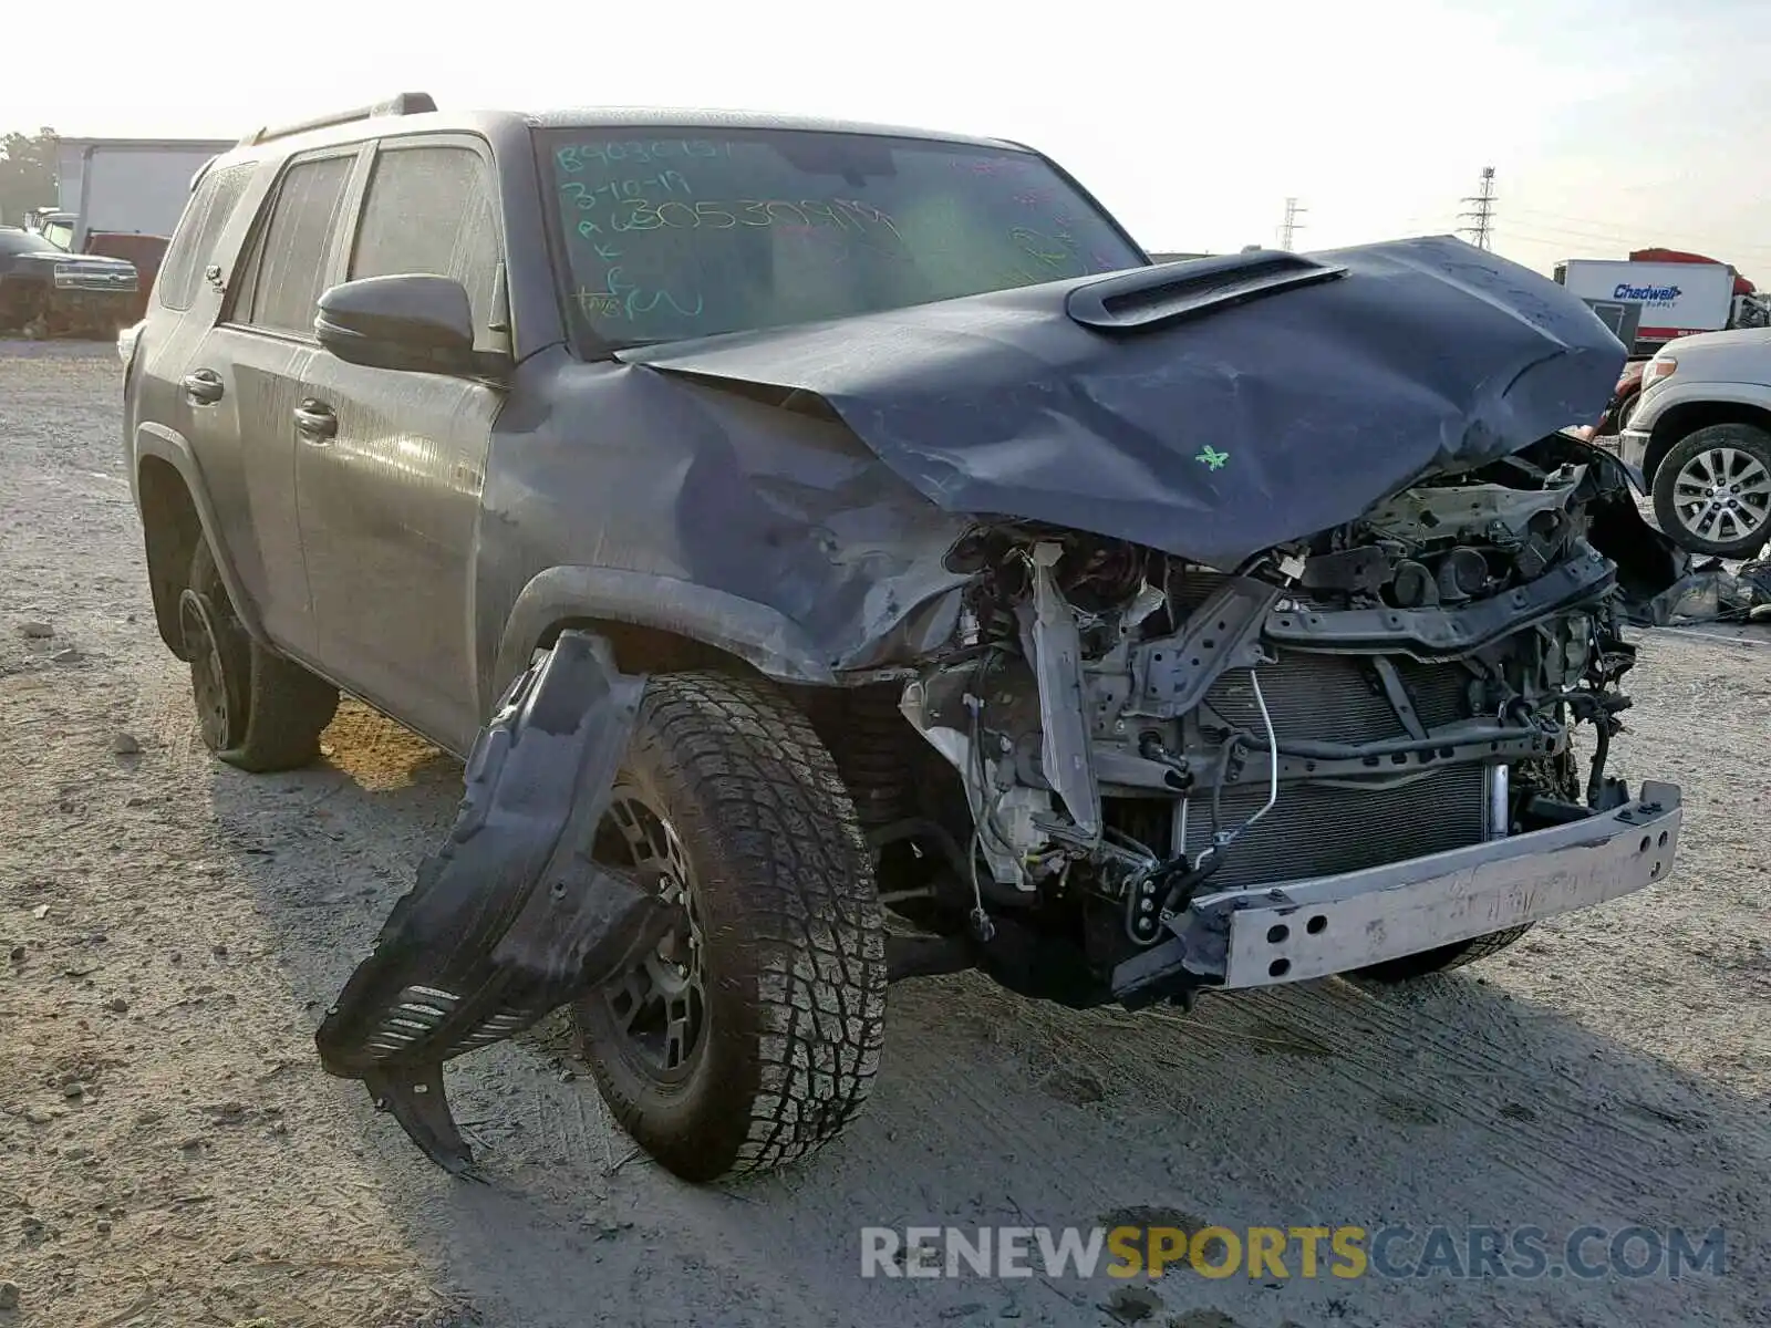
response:
M278 27L280 11L299 18ZM53 35L62 12L78 39ZM74 12L27 25L43 58L5 62L0 129L232 138L400 90L445 108L841 115L1032 143L1146 248L1211 251L1272 244L1288 195L1307 209L1300 250L1452 230L1491 165L1507 257L1548 271L1667 244L1771 285L1771 0Z

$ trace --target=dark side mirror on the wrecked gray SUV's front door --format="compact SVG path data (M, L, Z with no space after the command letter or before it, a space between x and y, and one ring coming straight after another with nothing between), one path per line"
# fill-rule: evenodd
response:
M487 374L501 356L473 349L473 308L452 276L363 276L321 296L313 335L340 359L413 374Z

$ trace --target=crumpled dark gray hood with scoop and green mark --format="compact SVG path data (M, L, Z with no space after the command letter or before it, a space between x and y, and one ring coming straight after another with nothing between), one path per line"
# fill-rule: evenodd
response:
M1250 292L1296 260L1234 255L620 358L815 393L944 510L1220 568L1596 418L1624 365L1578 297L1461 241L1311 259L1344 273Z

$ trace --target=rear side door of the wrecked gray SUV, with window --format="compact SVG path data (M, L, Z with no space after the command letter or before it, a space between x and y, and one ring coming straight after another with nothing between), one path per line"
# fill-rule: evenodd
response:
M220 317L195 331L174 390L223 522L225 554L264 630L305 659L315 641L296 521L294 407L315 354L313 305L342 262L360 159L361 145L292 158L234 271L209 271L204 251L172 251L156 294L161 303L195 296L202 306L202 289L225 282Z

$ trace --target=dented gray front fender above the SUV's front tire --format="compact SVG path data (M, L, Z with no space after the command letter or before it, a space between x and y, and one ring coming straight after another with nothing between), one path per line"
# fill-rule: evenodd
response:
M475 590L482 692L565 620L694 637L790 682L907 664L947 639L965 529L847 427L565 351L499 416Z

